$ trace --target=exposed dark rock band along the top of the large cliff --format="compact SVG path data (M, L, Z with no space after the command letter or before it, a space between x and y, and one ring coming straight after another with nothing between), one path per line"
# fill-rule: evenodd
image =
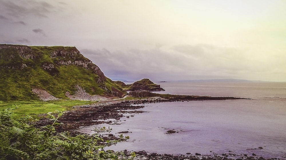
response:
M33 48L31 48L33 47ZM56 65L76 65L83 67L85 69L91 70L97 75L99 75L99 83L106 80L104 73L100 70L100 68L92 63L88 58L85 58L79 50L75 47L63 47L63 46L55 46L55 50L51 50L50 47L47 46L24 46L24 45L12 45L12 44L0 44L0 50L7 49L10 51L10 55L8 56L8 60L12 60L16 58L17 54L23 59L30 60L41 60L45 53L43 50L51 50L49 52L49 57L54 60ZM38 49L38 50L35 50ZM52 47L54 48L54 47ZM17 54L11 54L17 53ZM3 58L5 55L1 55L0 58ZM6 56L7 57L7 56ZM55 64L43 62L43 69L51 69ZM27 66L27 64L22 64L22 66ZM2 65L2 67L5 67ZM7 68L12 69L21 69L16 65L13 67L7 66ZM23 68L23 67L22 67Z

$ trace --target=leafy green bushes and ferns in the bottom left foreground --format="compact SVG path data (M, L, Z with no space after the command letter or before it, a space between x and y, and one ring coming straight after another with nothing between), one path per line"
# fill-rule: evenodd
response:
M13 106L16 107L16 106ZM49 114L53 123L41 128L35 128L35 120L31 116L15 119L14 108L0 112L0 160L94 160L94 159L128 159L121 152L104 151L108 145L98 145L103 141L97 134L80 134L71 136L69 132L57 133L57 119L63 112L57 111L57 116ZM126 140L120 136L118 141ZM116 143L118 141L112 141ZM132 154L134 155L134 154Z

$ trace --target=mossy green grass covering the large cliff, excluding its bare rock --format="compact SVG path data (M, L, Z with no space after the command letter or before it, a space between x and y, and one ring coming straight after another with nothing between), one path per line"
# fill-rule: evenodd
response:
M77 51L75 47L30 46L30 48L32 51L29 54L34 56L33 60L22 58L13 47L0 50L0 100L36 100L37 96L32 92L33 87L45 89L51 95L62 99L67 99L65 92L69 91L72 94L77 84L91 95L108 95L112 87L122 91L108 78L104 82L97 83L99 76L92 70L56 63L57 61L89 61L81 54L77 54L76 57L50 57L50 52L57 50L73 52ZM22 67L23 64L27 67ZM55 67L44 70L45 64L52 64ZM103 90L99 85L106 86L109 91Z

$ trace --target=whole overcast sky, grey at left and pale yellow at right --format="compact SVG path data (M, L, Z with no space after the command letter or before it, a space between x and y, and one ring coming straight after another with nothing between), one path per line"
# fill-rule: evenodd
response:
M76 46L111 79L286 81L286 1L0 0L0 43Z

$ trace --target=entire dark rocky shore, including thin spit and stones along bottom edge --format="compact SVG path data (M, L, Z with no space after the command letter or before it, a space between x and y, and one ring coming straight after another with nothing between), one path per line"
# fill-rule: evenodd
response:
M219 97L212 97L214 99L220 99ZM222 99L231 99L233 97L222 97ZM205 97L200 97L197 100L209 100ZM239 99L239 98L233 98ZM96 124L120 124L120 118L122 118L125 113L137 114L145 111L137 111L136 109L144 108L144 103L158 103L158 102L174 102L174 101L188 101L194 100L192 98L177 97L177 98L162 98L162 97L149 97L143 99L135 100L107 100L96 104L75 106L75 110L67 111L62 117L59 118L59 122L63 125L57 128L58 132L71 131L80 129L83 126L91 126ZM132 110L132 111L128 111ZM128 117L127 117L128 118ZM49 123L48 119L42 119L39 121L39 125L46 125ZM175 133L174 130L169 130L166 134ZM74 132L74 134L79 134ZM104 140L116 140L116 136L113 134L102 135ZM100 142L99 142L100 143ZM131 155L131 151L124 150L124 155L127 157ZM200 153L185 153L184 155L174 155L166 153L147 153L146 151L136 151L135 160L266 160L263 157L253 155L236 155L232 152L225 154L214 154L212 155L201 155ZM267 160L272 160L277 158L268 158ZM285 158L286 159L286 158ZM278 158L278 160L280 160Z

